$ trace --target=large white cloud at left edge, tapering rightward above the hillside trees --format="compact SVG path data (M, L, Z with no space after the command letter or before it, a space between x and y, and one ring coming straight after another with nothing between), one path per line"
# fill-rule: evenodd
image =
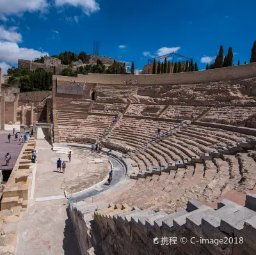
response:
M0 59L9 63L17 63L18 59L33 60L40 56L49 56L47 52L34 49L20 48L15 42L0 41Z

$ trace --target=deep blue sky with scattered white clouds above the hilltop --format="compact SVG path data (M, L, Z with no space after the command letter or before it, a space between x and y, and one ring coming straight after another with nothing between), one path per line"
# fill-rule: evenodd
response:
M134 61L175 52L205 69L223 45L248 63L256 40L256 1L0 0L0 66L17 59L84 50ZM142 59L139 59L142 58Z

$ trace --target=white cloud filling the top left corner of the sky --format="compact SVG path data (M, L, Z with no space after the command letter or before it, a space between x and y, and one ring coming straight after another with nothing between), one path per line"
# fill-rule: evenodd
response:
M47 0L0 0L0 19L7 20L8 15L21 15L24 12L44 12L49 4Z

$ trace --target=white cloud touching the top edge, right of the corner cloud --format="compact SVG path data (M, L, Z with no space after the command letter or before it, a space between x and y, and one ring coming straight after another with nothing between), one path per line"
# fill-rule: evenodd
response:
M60 6L81 7L83 12L88 16L100 10L100 6L95 0L55 0L55 4L58 7Z

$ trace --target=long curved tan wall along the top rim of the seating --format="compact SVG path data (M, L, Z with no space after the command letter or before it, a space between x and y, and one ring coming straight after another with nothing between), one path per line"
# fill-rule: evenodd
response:
M70 81L74 77L67 76L55 76L52 79L58 77L59 81ZM189 84L189 83L201 83L201 82L216 82L216 81L228 81L236 79L246 79L250 77L256 77L256 63L250 63L246 65L230 66L225 68L218 68L212 70L198 71L198 72L186 72L186 73L164 73L164 74L100 74L89 73L88 75L78 75L77 82L99 83L99 84L123 84L124 80L132 79L134 84L135 80L138 80L140 84Z

